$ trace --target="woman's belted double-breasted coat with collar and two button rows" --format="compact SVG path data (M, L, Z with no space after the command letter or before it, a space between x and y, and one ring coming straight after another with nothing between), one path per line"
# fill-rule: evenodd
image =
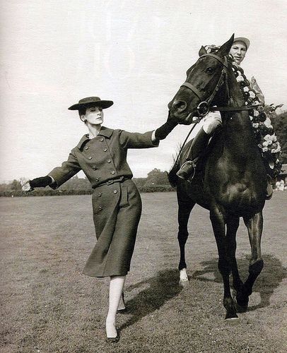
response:
M93 221L97 242L83 273L93 277L127 275L141 217L141 197L127 164L129 148L152 148L152 131L130 133L102 126L95 138L84 135L61 167L49 176L52 189L83 170L94 192Z

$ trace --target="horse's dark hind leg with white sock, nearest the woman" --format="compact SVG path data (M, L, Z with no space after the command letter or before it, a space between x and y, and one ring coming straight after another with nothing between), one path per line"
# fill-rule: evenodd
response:
M187 224L189 215L194 207L194 201L187 199L183 191L177 187L177 203L178 203L178 234L177 240L180 245L180 263L178 269L180 270L180 283L187 282L187 263L185 262L185 244L188 238Z

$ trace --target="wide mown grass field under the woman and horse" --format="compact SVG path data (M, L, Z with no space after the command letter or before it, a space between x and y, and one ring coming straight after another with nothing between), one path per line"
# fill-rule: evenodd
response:
M81 274L95 244L90 196L1 198L0 352L287 352L287 193L264 208L264 270L237 325L224 322L209 213L189 221L189 285L178 285L175 193L145 193L121 340L105 342L106 279ZM238 230L238 265L250 246Z

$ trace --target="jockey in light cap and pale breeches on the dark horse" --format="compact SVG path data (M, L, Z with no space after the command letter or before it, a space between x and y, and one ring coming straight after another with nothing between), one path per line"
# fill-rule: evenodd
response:
M229 52L229 54L233 56L233 71L235 71L235 69L240 70L242 72L241 75L243 75L243 71L242 68L240 68L240 64L242 63L243 59L245 59L245 54L249 46L250 41L247 38L237 37L234 39L233 46L231 47ZM216 47L215 45L208 45L205 48L207 53L216 52L219 49L219 47ZM240 73L240 71L237 72ZM238 79L238 82L239 81L240 80ZM253 98L255 100L257 99L257 102L264 106L264 95L262 94L262 90L260 90L259 86L257 85L255 78L252 77L250 82L247 82L248 85L250 85L252 91L254 92L255 97ZM250 119L252 119L252 116L250 116ZM221 128L222 126L220 112L209 113L208 115L206 115L206 117L204 117L203 121L204 123L199 129L197 136L195 136L194 140L192 141L192 145L189 150L189 155L187 156L187 161L182 164L182 167L180 167L180 170L177 172L177 177L180 177L181 179L184 179L186 181L192 179L192 175L194 174L194 168L197 165L197 161L199 160L199 157L201 156L202 152L204 152L204 149L209 143L209 139L213 135L214 131L216 130L216 128ZM269 175L267 179L268 184L266 190L266 199L269 199L272 196L273 189L272 179Z

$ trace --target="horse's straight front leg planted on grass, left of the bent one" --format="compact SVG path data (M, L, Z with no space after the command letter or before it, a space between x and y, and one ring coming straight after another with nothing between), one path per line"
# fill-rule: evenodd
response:
M223 213L216 207L210 212L211 224L218 249L218 270L223 278L223 305L226 309L225 320L238 318L235 305L231 297L229 276L231 272L230 256L228 254L228 240L225 237L225 219Z

